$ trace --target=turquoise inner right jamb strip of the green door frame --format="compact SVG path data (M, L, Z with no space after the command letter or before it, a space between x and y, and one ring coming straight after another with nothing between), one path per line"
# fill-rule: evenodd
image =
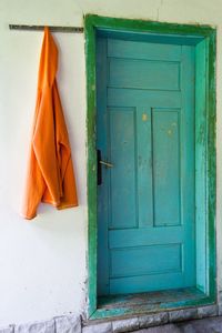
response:
M196 285L203 292L209 292L209 283L206 283L206 251L205 251L205 239L206 239L206 94L205 94L205 80L206 80L206 59L202 57L206 52L205 40L199 43L195 48L195 75L200 78L196 82L195 94L201 95L201 99L196 98L196 112L195 112L195 124L196 124L196 139L195 139L195 183L196 183L196 195L195 195L195 232L196 235Z

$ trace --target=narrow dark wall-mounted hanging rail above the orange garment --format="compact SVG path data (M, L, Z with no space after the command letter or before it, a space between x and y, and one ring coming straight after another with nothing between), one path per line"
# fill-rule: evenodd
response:
M57 27L57 26L48 26L51 32L75 32L82 33L82 27ZM27 31L42 31L44 30L44 26L26 26L26 24L9 24L10 30L27 30Z

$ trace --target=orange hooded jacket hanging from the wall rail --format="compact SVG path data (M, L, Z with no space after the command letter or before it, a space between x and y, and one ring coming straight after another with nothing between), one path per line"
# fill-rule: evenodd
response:
M33 219L40 203L78 205L68 132L56 73L58 49L48 28L41 50L37 105L22 215Z

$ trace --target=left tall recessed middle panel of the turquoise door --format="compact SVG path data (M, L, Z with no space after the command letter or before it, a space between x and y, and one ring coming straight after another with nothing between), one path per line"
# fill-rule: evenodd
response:
M110 123L110 229L137 228L135 110L109 109ZM98 132L100 128L98 127ZM120 186L121 182L121 186ZM104 260L104 259L103 259Z

